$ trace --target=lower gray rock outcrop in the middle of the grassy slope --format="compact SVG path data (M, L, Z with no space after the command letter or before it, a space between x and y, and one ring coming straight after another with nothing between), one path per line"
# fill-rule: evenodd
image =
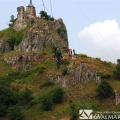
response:
M68 77L62 75L49 75L50 81L56 81L63 87L85 84L89 81L101 82L101 78L97 76L97 72L90 68L86 63L80 63L75 69L72 69Z

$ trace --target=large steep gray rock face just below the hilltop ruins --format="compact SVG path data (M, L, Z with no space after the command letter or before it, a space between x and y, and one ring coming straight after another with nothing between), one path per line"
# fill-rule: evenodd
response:
M68 48L67 30L63 21L36 19L16 50L22 52L42 52L46 47Z

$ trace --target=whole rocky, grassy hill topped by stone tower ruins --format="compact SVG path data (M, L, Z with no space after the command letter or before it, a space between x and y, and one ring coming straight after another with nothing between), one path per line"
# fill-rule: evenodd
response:
M75 104L79 109L120 109L114 98L99 101L96 97L103 79L119 91L120 81L112 77L116 64L84 54L69 55L62 19L45 12L44 17L37 17L32 2L17 10L17 19L0 31L1 120L11 116L23 120L22 115L25 120L71 120L70 108ZM56 48L63 56L59 68ZM76 109L72 112L78 113Z

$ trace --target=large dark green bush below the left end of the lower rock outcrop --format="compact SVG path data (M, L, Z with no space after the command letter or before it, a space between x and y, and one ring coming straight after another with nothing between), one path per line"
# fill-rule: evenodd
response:
M60 87L54 87L39 96L38 102L42 110L51 110L53 105L61 103L64 98L64 91Z

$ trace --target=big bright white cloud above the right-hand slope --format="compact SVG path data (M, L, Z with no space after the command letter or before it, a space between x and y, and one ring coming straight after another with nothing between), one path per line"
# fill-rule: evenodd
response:
M85 27L79 33L81 52L115 62L120 58L120 26L105 20Z

